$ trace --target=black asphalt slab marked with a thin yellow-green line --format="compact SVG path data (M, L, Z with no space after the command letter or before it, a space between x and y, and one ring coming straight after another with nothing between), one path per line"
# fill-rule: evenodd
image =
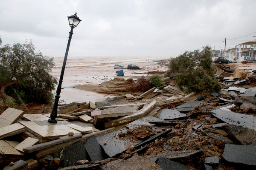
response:
M64 167L74 165L76 161L88 159L83 142L77 141L64 147L53 154L54 158L60 158Z

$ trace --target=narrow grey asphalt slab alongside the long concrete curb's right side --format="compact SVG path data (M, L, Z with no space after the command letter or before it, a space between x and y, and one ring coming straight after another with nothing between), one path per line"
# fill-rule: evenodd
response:
M140 119L137 119L127 125L125 125L125 127L127 129L134 129L136 127L141 127L141 126L153 126L151 123L149 122L152 122L152 121L161 121L162 119L159 119L157 117L151 117L151 116L147 116L147 117L143 117L143 118L140 118Z

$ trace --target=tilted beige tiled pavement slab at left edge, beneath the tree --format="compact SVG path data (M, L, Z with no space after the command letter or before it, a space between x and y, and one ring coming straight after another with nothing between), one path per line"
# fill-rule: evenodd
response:
M22 116L23 111L14 108L7 108L0 115L0 127L12 125L13 123L16 123Z

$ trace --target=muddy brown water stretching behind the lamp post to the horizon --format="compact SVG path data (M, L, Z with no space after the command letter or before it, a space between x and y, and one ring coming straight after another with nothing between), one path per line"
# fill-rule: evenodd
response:
M59 79L64 57L55 57L55 67L52 75ZM93 91L84 91L75 88L76 85L98 85L116 77L117 69L114 64L137 64L142 70L124 69L124 78L137 79L140 76L147 76L147 71L166 71L168 67L158 65L156 61L168 58L156 57L70 57L65 67L61 98L59 103L70 102L96 102L105 100L107 97L114 97L106 94L97 94ZM57 85L56 85L57 87ZM56 91L53 91L55 94Z

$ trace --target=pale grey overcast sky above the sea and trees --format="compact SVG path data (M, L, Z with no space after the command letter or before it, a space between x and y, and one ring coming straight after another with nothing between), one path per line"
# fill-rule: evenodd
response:
M62 57L67 16L77 12L69 58L168 58L205 45L224 50L225 38L226 48L254 40L255 8L256 0L1 0L0 37Z

